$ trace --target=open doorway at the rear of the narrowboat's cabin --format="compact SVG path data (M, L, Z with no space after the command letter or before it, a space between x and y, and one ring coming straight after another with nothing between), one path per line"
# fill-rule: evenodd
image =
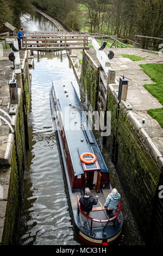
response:
M101 173L98 170L92 172L86 172L86 187L90 188L90 191L96 191L99 193L101 187Z

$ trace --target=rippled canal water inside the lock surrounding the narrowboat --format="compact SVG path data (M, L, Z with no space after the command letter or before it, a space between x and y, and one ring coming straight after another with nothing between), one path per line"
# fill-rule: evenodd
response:
M28 15L29 19L30 15ZM35 19L31 19L35 30ZM24 24L25 25L25 24ZM41 25L40 25L41 26ZM44 24L43 24L44 26ZM24 26L26 30L26 27ZM46 30L40 28L40 30ZM66 51L34 52L34 69L29 113L30 150L26 154L21 209L20 245L80 245L74 235L68 211L57 141L49 106L52 81L72 81L81 95ZM84 104L85 102L83 102ZM96 132L101 145L101 138ZM107 150L103 155L111 173L111 184L121 193L124 214L122 234L115 245L142 245L143 241L130 211L127 198L118 180Z

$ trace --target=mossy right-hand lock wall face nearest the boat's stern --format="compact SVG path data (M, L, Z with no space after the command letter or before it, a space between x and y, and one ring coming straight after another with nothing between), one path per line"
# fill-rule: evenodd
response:
M110 90L107 109L111 111L111 134L105 138L106 147L145 242L154 242L153 222L162 211L155 204L155 198L158 200L160 169L149 154L139 131L130 123L126 111L120 107ZM158 236L155 242L160 239L161 236Z

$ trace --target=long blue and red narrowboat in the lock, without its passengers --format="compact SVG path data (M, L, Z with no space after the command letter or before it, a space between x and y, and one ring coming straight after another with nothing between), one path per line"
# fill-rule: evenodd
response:
M112 190L109 169L82 103L72 82L67 81L53 82L49 99L74 233L82 244L109 245L121 234L122 207L118 201L112 216L106 213L104 203ZM85 187L93 197L98 196L89 215L79 203Z

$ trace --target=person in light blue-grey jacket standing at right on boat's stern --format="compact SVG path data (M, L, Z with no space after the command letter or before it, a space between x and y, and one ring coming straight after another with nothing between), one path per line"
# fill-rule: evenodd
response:
M118 193L116 188L113 188L111 193L108 194L108 197L106 198L106 202L104 206L108 209L108 214L111 214L112 211L117 207L118 200L121 199L121 195Z

